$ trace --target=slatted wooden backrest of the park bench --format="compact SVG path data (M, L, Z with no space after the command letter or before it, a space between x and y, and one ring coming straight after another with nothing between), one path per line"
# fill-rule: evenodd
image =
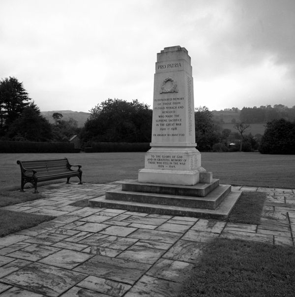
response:
M67 158L59 160L17 161L21 169L36 170L38 174L59 173L69 170Z

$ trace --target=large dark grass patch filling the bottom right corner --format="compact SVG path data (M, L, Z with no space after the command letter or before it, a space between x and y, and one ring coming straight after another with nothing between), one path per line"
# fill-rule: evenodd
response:
M217 238L184 283L180 297L294 296L295 250Z

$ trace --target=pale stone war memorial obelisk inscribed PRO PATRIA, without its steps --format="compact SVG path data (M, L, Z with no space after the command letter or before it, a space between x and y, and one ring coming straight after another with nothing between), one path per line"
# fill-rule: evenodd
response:
M201 167L201 153L196 149L191 58L180 46L157 54L150 146L139 182L211 182L212 174Z

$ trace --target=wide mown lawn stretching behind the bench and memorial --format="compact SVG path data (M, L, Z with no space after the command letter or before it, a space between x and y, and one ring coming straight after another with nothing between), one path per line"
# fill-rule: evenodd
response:
M67 157L70 164L82 165L85 182L107 183L119 179L136 179L144 168L144 152L122 153L2 153L0 154L0 188L20 188L21 173L17 160ZM295 155L263 155L259 152L204 152L202 166L213 172L221 183L232 185L295 188ZM78 178L72 178L78 182ZM52 182L63 182L55 180ZM42 185L42 183L40 183Z

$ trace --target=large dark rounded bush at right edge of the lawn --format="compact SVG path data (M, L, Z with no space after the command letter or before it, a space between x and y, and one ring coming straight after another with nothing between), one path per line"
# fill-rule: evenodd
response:
M269 154L295 154L295 122L285 119L268 122L259 151Z

